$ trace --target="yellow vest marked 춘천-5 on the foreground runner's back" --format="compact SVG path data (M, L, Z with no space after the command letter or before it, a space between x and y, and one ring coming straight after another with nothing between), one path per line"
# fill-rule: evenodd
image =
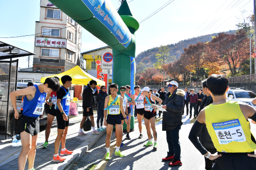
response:
M245 119L239 103L227 101L205 107L205 123L218 152L248 153L256 149L250 122Z

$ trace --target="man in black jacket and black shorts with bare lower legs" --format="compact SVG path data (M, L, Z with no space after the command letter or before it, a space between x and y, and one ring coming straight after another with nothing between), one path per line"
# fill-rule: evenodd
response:
M92 80L87 84L83 91L83 119L80 124L80 130L78 135L87 135L83 132L83 126L84 122L87 119L88 116L90 116L90 121L92 122L93 126L93 134L98 135L99 132L95 130L95 124L94 124L94 117L93 117L93 102L94 102L94 97L98 95L98 90L96 88L97 82Z

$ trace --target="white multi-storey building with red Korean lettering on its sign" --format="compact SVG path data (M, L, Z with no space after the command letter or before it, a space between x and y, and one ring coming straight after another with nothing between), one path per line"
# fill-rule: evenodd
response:
M35 34L33 72L61 73L76 65L83 68L82 27L47 0L40 1Z

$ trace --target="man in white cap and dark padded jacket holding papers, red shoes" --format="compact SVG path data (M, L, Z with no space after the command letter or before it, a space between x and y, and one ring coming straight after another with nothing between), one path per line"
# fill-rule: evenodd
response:
M166 138L168 143L169 152L163 161L171 161L169 166L182 166L180 160L180 141L179 131L182 125L182 111L184 107L185 92L182 89L177 89L178 83L171 81L168 84L168 93L165 95L166 100L163 103L163 131L166 131Z

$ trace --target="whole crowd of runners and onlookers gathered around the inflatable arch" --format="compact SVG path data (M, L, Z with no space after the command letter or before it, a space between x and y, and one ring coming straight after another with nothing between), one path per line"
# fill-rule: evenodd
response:
M28 84L28 88L14 91L10 94L15 119L19 119L18 129L21 136L22 150L19 156L19 169L24 169L26 160L29 162L29 170L34 169L34 159L36 143L39 134L39 116L43 114L44 102L49 105L47 117L47 129L45 130L45 143L43 148L47 148L51 125L56 116L57 138L54 143L54 162L63 162L63 155L70 155L73 152L65 146L66 135L69 125L70 93L68 88L72 85L72 78L69 75L61 77L63 86L60 86L60 79L52 77L45 79L43 84ZM186 115L194 109L194 118L197 118L191 128L189 139L196 149L205 156L205 169L254 169L256 167L254 150L256 141L250 132L248 118L256 124L256 110L252 106L231 102L226 100L228 90L228 79L222 75L213 74L202 82L202 89L196 94L194 89L178 89L179 84L171 81L167 84L168 92L162 87L150 89L135 86L135 94L130 93L129 85L121 86L113 83L109 86L111 95L107 95L106 87L101 86L98 92L97 82L90 81L83 91L83 119L77 135L87 135L83 131L84 122L88 117L92 122L92 134L98 135L106 126L106 150L105 159L110 159L109 147L111 144L111 134L115 126L116 150L115 155L125 157L120 152L124 147L122 136L124 135L124 122L127 127L126 138L130 138L131 110L134 106L134 115L138 119L139 139L142 135L142 119L147 130L147 143L145 147L157 149L156 130L156 105L162 107L159 117L163 114L162 130L166 131L166 141L168 151L164 162L170 162L169 166L182 166L181 147L179 141L179 131L182 126L182 115L186 106ZM120 91L120 95L117 95ZM22 115L16 106L16 97L22 98ZM94 96L97 102L97 126L94 123L93 105ZM253 102L256 102L253 101ZM190 108L190 110L189 110ZM151 133L153 131L153 135ZM154 141L153 141L154 139ZM61 152L59 148L61 143Z

